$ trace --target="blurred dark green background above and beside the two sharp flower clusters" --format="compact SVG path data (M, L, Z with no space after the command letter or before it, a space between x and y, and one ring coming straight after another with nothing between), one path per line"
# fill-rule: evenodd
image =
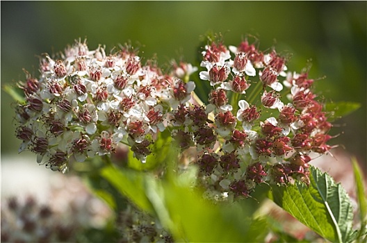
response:
M1 85L38 75L40 53L63 51L87 37L90 49L109 51L131 40L158 63L184 56L195 62L199 37L222 33L225 44L246 34L260 49L275 44L292 53L288 69L312 59L311 78L325 101L354 101L361 108L336 121L332 140L366 162L366 1L1 1ZM12 99L1 90L1 156L17 153ZM342 133L343 131L343 133ZM30 153L29 153L30 154Z

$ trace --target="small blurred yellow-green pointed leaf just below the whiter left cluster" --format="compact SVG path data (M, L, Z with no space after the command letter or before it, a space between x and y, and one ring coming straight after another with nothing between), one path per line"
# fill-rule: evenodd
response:
M120 170L109 165L101 170L101 176L140 209L149 213L154 212L152 204L145 195L145 178L142 172L131 169Z

